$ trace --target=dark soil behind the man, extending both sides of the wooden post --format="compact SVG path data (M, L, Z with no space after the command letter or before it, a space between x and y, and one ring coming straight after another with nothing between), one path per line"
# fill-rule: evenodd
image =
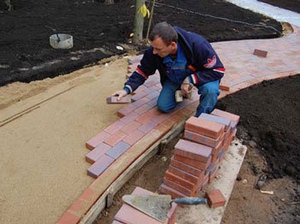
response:
M99 0L11 2L12 11L4 1L0 4L0 86L54 77L125 53L116 46L128 43L133 30L135 0L115 0L113 5ZM219 0L156 1L153 23L160 21L211 42L278 37L282 31L275 20ZM145 31L147 26L148 19ZM71 34L74 47L53 49L49 36L55 33Z

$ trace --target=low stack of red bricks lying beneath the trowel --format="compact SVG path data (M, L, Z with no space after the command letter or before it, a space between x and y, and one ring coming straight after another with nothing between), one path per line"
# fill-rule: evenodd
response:
M140 187L136 187L132 192L132 195L152 195L151 191L145 190ZM168 211L167 220L164 224L175 224L175 214L176 214L176 203L172 203L172 207ZM139 211L138 209L128 205L123 204L119 211L114 216L112 224L137 224L137 223L147 223L147 224L162 224L161 221L154 219L146 215L145 213Z

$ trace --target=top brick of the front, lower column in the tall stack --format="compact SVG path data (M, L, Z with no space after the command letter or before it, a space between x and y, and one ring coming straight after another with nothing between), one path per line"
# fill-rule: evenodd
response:
M211 147L184 139L180 139L174 148L174 154L201 162L208 161L212 153Z

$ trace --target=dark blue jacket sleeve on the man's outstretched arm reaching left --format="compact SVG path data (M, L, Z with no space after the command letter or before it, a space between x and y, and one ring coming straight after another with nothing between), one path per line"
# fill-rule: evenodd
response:
M152 47L149 47L145 52L137 66L136 70L130 75L129 79L124 84L124 90L129 94L135 91L142 85L150 75L153 75L157 69L156 56L153 55Z

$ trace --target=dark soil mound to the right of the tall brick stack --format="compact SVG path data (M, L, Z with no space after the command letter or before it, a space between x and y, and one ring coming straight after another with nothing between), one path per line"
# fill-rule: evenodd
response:
M300 75L264 81L218 102L240 115L238 137L258 143L269 177L300 180Z

